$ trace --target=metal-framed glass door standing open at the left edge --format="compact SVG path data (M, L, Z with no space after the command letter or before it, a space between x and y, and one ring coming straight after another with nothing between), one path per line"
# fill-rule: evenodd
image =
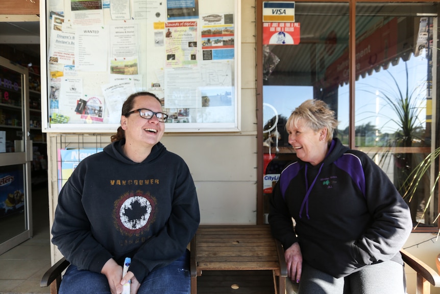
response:
M32 236L28 78L0 57L0 254Z

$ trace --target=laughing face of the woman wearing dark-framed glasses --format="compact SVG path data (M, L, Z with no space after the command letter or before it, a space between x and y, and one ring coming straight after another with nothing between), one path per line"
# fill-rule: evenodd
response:
M146 108L154 112L162 112L162 105L152 96L137 96L134 98L130 111ZM156 115L151 119L141 118L139 112L121 116L121 127L125 130L126 146L136 148L151 148L162 139L165 123L159 122Z

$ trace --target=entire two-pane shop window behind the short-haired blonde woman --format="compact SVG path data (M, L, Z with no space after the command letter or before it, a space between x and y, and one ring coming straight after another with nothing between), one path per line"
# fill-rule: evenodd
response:
M295 2L289 25L267 24L264 3L257 3L262 8L262 222L273 183L295 159L285 122L304 100L322 99L339 121L336 137L368 153L386 172L407 199L418 230L437 230L438 157L429 157L432 164L420 175L419 186L414 193L406 192L411 172L439 146L438 4L357 3L355 48L350 51L350 3ZM268 37L281 31L294 43L280 44Z

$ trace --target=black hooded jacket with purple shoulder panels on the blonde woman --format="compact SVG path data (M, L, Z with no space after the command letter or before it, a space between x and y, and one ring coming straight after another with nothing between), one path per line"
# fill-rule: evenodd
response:
M403 264L399 250L412 229L388 176L338 139L319 165L298 160L282 171L269 222L284 248L299 242L303 261L335 278L386 260Z

